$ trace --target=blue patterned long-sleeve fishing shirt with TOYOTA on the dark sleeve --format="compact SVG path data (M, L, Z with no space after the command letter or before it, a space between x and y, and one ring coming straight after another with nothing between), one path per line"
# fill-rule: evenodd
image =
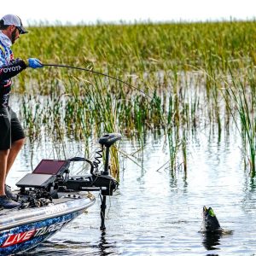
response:
M11 40L0 30L0 108L9 105L12 77L24 70L26 62L14 59Z

